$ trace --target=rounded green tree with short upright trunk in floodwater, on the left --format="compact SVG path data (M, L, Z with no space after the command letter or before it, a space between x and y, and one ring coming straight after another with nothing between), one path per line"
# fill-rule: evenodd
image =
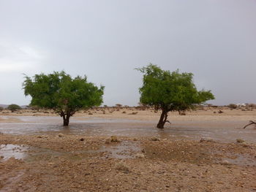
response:
M52 109L63 118L63 125L69 125L69 118L78 110L102 104L104 87L98 88L85 77L72 79L69 74L53 72L25 76L23 89L31 96L31 106Z

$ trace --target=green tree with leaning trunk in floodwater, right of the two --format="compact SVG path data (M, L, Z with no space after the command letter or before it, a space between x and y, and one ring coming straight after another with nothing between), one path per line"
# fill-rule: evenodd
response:
M197 104L214 99L211 91L197 91L192 73L164 71L153 64L137 70L143 73L140 102L162 110L157 128L164 128L168 112L193 110Z

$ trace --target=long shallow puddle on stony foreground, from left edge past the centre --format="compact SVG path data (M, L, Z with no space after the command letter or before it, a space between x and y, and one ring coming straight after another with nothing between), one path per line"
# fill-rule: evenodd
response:
M102 158L134 158L132 153L140 151L140 147L135 142L120 142L102 146L99 150L77 150L72 152L57 152L40 147L30 147L24 145L1 145L0 156L2 161L8 158L23 159L24 161L38 161L45 159L54 161L57 158L67 159L69 161L78 161L84 158L90 158L91 155L102 153Z

